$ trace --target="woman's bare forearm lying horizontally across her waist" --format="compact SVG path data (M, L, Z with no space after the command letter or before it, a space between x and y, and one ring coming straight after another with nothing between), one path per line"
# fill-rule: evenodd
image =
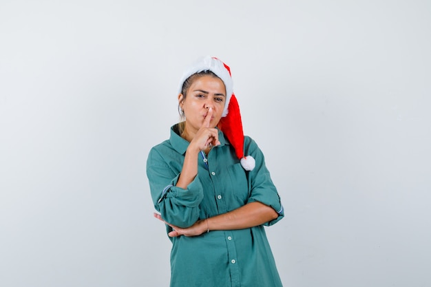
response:
M209 217L209 230L233 230L250 228L275 220L278 213L262 202L250 202L228 213Z

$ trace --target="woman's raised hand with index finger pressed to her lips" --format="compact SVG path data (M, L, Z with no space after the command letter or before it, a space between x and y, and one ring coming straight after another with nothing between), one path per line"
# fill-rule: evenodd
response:
M210 107L202 127L200 127L193 140L191 140L189 147L191 146L198 151L203 151L208 147L220 145L220 141L218 140L218 130L215 129L215 127L210 127L212 116L213 109Z

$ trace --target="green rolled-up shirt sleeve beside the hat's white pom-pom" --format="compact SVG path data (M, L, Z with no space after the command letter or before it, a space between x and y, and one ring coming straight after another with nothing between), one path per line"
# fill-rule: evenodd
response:
M255 168L249 173L251 192L247 202L262 202L277 211L278 217L264 224L266 226L273 225L284 217L280 195L271 180L269 170L266 168L264 155L255 141L246 137L244 138L244 146L246 155L253 156L256 163Z

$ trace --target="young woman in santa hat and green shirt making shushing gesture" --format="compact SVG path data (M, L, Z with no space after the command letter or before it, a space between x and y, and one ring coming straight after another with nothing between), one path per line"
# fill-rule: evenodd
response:
M180 81L180 123L149 152L154 216L173 244L171 287L282 286L264 225L283 207L262 151L242 133L232 86L219 59L193 63Z

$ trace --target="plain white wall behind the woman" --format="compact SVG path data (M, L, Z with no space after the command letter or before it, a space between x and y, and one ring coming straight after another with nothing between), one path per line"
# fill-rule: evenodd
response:
M430 1L0 2L0 286L168 286L145 162L231 66L284 286L431 286ZM266 287L266 286L265 286Z

